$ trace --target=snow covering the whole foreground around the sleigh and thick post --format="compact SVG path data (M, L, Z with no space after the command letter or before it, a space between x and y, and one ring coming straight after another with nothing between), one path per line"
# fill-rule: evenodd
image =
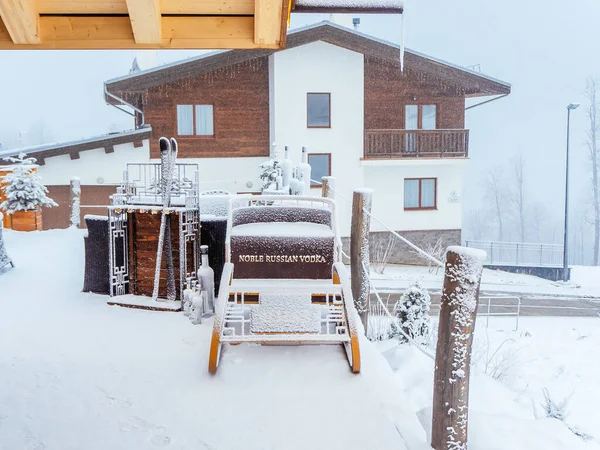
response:
M236 346L209 376L210 321L80 292L80 231L5 241L17 268L0 275L2 450L430 448L417 417L430 422L433 362L412 347L365 341L352 375L339 347ZM494 380L476 344L469 449L600 449L532 407L543 387L571 395L567 423L598 439L600 319L527 318L519 332L502 320L488 354L513 339L496 355L519 362Z

